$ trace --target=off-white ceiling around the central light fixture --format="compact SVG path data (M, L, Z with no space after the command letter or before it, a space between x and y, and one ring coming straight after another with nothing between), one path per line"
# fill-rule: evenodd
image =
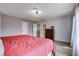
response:
M0 3L0 12L25 20L37 21L69 15L75 6L74 3ZM35 17L32 13L33 8L38 8L42 14Z

